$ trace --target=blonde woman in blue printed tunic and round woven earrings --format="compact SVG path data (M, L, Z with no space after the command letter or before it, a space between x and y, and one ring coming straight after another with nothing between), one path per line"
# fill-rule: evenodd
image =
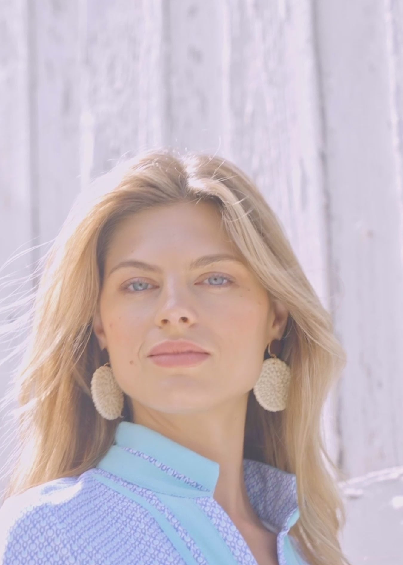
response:
M31 318L4 565L348 563L321 438L344 350L239 168L158 150L94 181Z

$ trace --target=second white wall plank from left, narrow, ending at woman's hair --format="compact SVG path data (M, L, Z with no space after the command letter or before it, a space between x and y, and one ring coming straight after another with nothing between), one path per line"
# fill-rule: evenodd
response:
M80 187L80 2L35 1L30 8L33 205L42 243L56 236Z

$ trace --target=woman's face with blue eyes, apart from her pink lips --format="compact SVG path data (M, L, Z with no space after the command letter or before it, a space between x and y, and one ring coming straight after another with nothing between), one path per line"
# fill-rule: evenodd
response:
M203 201L152 208L122 221L111 240L94 332L134 410L186 414L247 398L265 348L282 336L287 311L270 301L220 218ZM216 254L237 260L191 267ZM148 357L177 339L208 355L188 366Z

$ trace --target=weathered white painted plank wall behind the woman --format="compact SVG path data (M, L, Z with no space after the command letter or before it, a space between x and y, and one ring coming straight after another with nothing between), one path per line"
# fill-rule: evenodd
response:
M401 0L1 0L0 264L124 154L232 159L347 349L332 457L350 477L402 465L402 120Z

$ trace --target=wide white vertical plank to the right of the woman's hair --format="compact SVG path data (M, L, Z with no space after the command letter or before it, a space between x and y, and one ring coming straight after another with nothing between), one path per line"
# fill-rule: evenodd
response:
M316 11L336 326L348 353L342 463L356 476L402 461L402 219L387 29L383 2L321 0Z

